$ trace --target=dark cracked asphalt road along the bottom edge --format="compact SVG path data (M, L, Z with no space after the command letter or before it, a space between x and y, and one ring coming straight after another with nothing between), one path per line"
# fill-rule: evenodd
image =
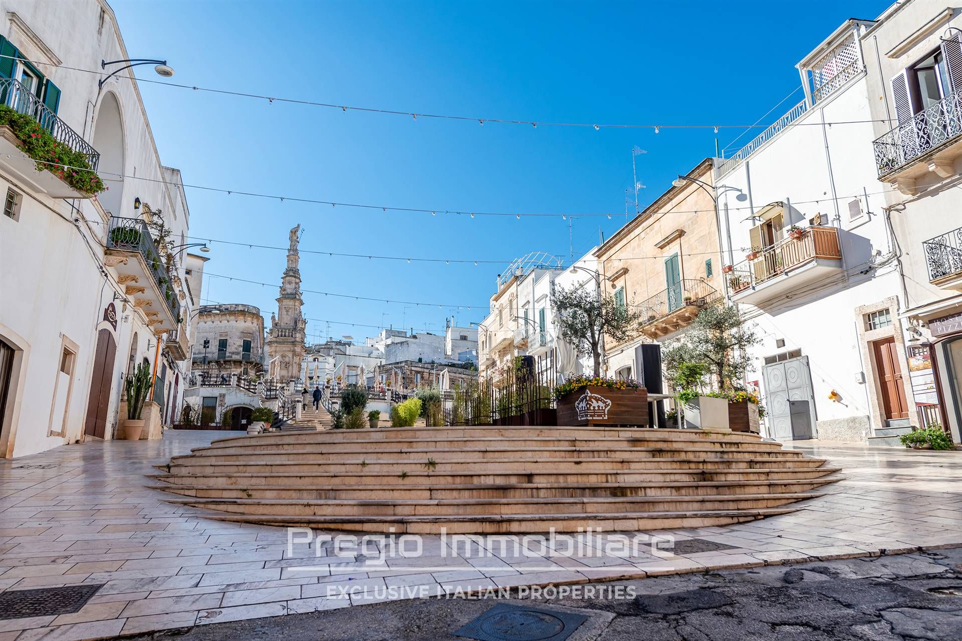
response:
M577 598L395 601L133 638L463 641L454 630L521 604L586 617L569 641L962 640L962 549L596 583L593 596L584 587ZM544 638L523 623L512 638Z

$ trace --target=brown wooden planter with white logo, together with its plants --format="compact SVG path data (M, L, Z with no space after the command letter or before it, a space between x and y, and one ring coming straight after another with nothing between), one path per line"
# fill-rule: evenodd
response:
M648 394L639 382L575 376L554 388L558 425L648 425Z

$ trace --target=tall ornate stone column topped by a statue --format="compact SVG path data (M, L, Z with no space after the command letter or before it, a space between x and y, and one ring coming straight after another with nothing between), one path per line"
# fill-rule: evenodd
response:
M304 360L304 338L307 321L301 315L300 270L297 263L298 233L300 225L291 229L288 265L284 270L280 295L277 297L277 314L270 315L270 333L267 337L268 375L280 382L295 381L300 377Z

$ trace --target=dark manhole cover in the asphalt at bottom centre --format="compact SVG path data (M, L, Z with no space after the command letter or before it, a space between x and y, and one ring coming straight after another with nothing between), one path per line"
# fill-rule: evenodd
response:
M477 641L564 641L587 618L538 607L497 604L454 633Z

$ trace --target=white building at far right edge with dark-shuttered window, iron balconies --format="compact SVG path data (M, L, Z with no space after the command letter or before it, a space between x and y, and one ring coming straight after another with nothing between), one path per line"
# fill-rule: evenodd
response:
M874 98L872 168L876 190L888 189L881 213L899 239L903 275L892 290L900 303L892 324L907 338L908 356L906 369L897 341L905 398L893 393L895 381L880 382L877 395L890 405L905 403L910 416L918 408L919 423L949 428L956 442L962 441L960 29L962 3L908 0L862 37Z

